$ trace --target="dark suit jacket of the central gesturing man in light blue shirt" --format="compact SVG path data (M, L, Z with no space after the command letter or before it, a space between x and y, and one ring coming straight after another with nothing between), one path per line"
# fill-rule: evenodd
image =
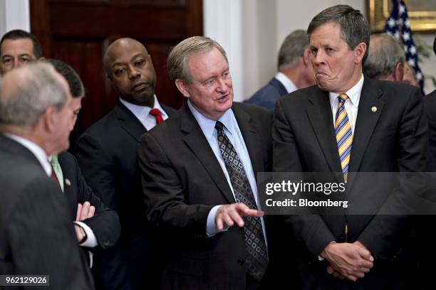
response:
M232 109L254 172L270 171L271 114L237 102ZM245 289L244 230L231 227L211 238L206 235L213 206L235 200L186 103L168 122L142 136L139 156L147 219L166 233L162 288Z

